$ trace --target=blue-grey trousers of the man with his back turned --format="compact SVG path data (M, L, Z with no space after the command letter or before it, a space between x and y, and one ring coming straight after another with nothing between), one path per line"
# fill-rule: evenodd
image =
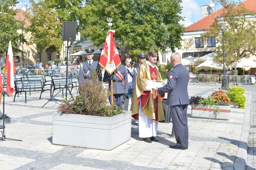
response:
M188 148L187 104L170 106L176 146Z

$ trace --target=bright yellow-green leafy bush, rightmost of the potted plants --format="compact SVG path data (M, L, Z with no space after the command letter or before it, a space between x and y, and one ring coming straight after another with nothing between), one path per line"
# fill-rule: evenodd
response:
M246 97L244 97L245 89L239 86L233 86L229 89L227 96L231 100L231 107L245 108Z

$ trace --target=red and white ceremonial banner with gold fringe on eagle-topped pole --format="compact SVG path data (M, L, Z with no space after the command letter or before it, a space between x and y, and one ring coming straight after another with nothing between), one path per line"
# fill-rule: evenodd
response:
M121 64L121 60L114 42L113 34L115 34L115 30L109 30L99 61L99 64L109 74L112 74Z

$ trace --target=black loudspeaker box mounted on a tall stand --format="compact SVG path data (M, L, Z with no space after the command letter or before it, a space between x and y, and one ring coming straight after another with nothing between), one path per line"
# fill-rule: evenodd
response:
M75 41L76 37L76 22L62 22L62 41Z

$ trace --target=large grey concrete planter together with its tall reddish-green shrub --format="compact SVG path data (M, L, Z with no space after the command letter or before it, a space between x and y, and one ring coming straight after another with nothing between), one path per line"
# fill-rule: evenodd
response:
M72 101L53 114L53 144L111 150L131 138L131 111L109 104L110 91L97 79L84 82Z

